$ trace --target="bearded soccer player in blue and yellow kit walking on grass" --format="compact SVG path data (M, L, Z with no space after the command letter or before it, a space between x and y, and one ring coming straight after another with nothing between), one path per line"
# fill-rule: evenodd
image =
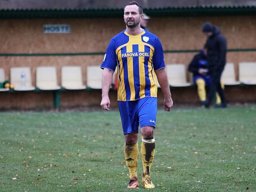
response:
M124 7L126 30L111 39L101 64L103 75L100 105L105 110L110 108L108 92L117 66L117 100L125 136L125 162L130 172L128 188L139 187L139 124L142 138L142 185L145 188L155 187L150 178L150 167L155 156L157 80L164 92L164 111L170 111L173 105L162 45L157 36L140 27L142 19L142 8L137 2L132 1Z

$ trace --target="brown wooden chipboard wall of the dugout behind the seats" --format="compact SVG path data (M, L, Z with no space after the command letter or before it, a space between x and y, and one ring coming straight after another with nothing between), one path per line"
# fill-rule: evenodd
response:
M211 21L221 29L222 33L227 37L228 49L255 49L255 16L151 18L148 22L148 28L160 38L164 50L199 50L205 42L205 37L201 32L205 21ZM71 33L44 34L44 24L69 24ZM124 30L124 28L125 25L122 18L0 20L0 53L105 52L111 37ZM183 63L188 66L195 54L165 53L164 56L166 64ZM2 56L0 57L0 68L4 68L6 78L10 79L11 67L29 66L32 72L32 83L35 85L37 66L56 66L58 83L60 84L60 69L62 66L80 65L83 69L83 81L86 84L86 66L100 65L103 56ZM241 61L256 61L255 52L228 52L227 62L235 63L237 79L238 63ZM234 88L231 88L231 93L232 89ZM173 92L179 95L187 92L186 94L184 93L185 99L180 96L177 97L178 102L184 100L186 102L197 101L194 89L181 89ZM247 92L251 94L248 96L249 101L255 101L255 92L250 93L248 90ZM111 94L112 103L116 105L116 93ZM176 98L174 93L172 94ZM75 95L75 100L71 99L73 95ZM230 99L229 95L231 94L227 90L228 99ZM179 100L179 98L183 99ZM0 99L4 100L4 102L1 102L0 108L52 106L52 95L49 92L0 93ZM231 100L239 101L239 97L234 98L232 96ZM61 93L61 105L63 107L96 105L99 101L100 91Z

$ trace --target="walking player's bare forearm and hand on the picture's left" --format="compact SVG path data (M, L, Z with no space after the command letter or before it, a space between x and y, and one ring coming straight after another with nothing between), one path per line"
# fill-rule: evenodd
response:
M109 110L110 107L110 100L108 97L108 92L110 89L110 86L112 84L114 71L111 71L107 68L103 69L102 74L102 100L101 100L101 107L105 110Z

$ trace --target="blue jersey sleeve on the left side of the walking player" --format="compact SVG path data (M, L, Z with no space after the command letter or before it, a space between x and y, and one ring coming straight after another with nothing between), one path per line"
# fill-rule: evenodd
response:
M100 68L107 68L111 71L115 71L117 65L116 61L116 50L115 50L115 40L112 38L108 44L108 48L104 55L103 62Z

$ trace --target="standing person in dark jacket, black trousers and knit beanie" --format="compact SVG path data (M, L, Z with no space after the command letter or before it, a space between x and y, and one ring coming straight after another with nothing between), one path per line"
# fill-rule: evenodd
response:
M214 93L220 95L221 107L227 107L225 93L221 88L220 77L226 64L227 41L226 38L220 33L220 29L214 27L212 23L206 22L203 25L202 31L207 36L207 66L208 74L212 77L209 95L204 102L206 108L209 108Z

